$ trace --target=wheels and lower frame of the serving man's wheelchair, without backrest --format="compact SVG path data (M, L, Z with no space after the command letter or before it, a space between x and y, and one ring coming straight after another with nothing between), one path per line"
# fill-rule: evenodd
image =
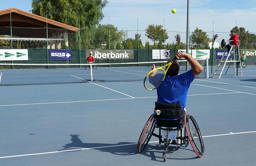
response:
M169 131L175 131L180 129L181 135L180 137L176 137L176 139L180 139L179 145L182 146L184 144L185 147L188 147L190 143L196 155L198 157L203 156L205 151L203 137L198 127L198 124L196 123L196 120L192 115L185 113L185 115L182 115L180 118L164 119L167 121L178 121L179 125L173 126L172 128L157 125L157 118L155 117L155 115L156 111L149 117L144 128L142 129L139 141L137 143L137 149L139 150L139 152L142 152L145 149L151 136L155 136L159 138L159 144L164 143L163 161L165 162L166 151L168 150L169 144L171 144L171 139L168 139ZM183 127L185 127L184 136ZM159 128L159 134L154 133L155 128ZM167 137L164 139L162 139L161 129L167 131Z

